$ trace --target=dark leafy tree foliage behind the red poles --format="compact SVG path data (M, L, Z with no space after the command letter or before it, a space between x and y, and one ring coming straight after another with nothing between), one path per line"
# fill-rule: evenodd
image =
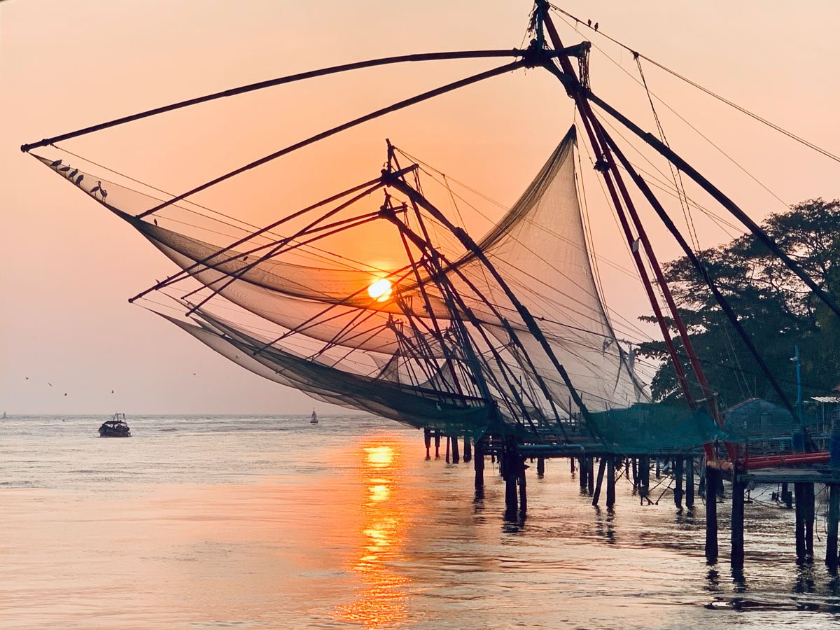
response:
M796 204L772 214L762 224L774 239L832 296L840 291L840 200ZM803 396L830 391L840 382L840 318L772 255L752 234L700 253L709 275L727 298L738 321L759 349L769 370L795 402L795 371L790 357L800 347ZM691 344L723 406L749 396L775 396L726 315L717 306L690 260L665 265L665 279L674 293ZM643 318L649 320L650 318ZM692 393L700 397L696 378L673 323L674 343L689 375ZM664 363L654 376L654 399L683 399L674 366L662 341L644 344L641 354Z

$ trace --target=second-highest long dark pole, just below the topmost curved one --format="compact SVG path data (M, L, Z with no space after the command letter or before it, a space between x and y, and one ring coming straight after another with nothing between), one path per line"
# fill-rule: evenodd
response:
M137 218L147 217L150 214L156 213L158 210L160 210L160 209L162 209L166 206L171 205L172 203L180 202L181 199L185 199L186 197L190 197L191 195L194 195L197 192L202 192L203 190L206 190L210 186L215 186L216 184L218 184L222 181L228 180L231 177L239 175L239 173L243 173L244 171L249 171L250 169L256 168L257 166L260 166L260 165L263 165L267 162L270 162L271 160L276 160L277 158L281 157L282 155L286 155L286 154L291 153L292 151L302 149L302 147L305 147L309 144L313 144L315 142L318 142L319 140L323 140L325 138L328 138L328 137L330 137L334 134L338 134L338 133L344 131L345 129L351 129L351 128L355 127L356 125L359 125L361 123L366 123L367 121L373 120L374 118L379 118L381 116L384 116L386 113L396 112L399 109L407 108L411 105L414 105L417 102L423 102L423 101L428 100L429 98L438 97L441 94L445 94L446 92L452 92L453 90L457 90L459 87L465 87L465 86L468 86L472 83L477 83L478 81L483 81L484 79L489 79L493 76L499 76L499 75L502 75L502 74L506 74L507 72L518 70L519 68L522 68L522 67L526 66L527 63L528 62L526 62L525 60L514 61L512 63L505 64L504 66L494 68L493 70L480 72L477 75L468 76L465 79L460 79L459 81L454 81L452 83L448 83L445 86L436 87L433 90L430 90L428 92L423 92L422 94L418 94L415 97L411 97L411 98L407 98L407 99L404 99L404 100L399 101L399 102L395 102L395 103L387 106L386 108L377 109L375 112L367 113L364 116L360 116L359 118L354 118L353 120L350 120L347 123L343 123L343 124L340 124L337 127L333 127L332 129L327 129L326 131L322 131L320 134L315 134L315 135L310 136L309 138L307 138L305 140L301 140L300 142L296 142L295 144L290 144L289 146L285 147L284 149L281 149L279 151L275 151L274 153L271 153L269 155L265 155L264 157L261 157L259 160L254 160L253 162L250 162L249 164L246 164L244 166L240 166L238 169L234 169L234 171L229 171L228 173L225 173L222 176L218 176L213 180L206 181L205 183L201 184L200 186L196 186L196 187L192 188L191 190L188 190L186 192L182 192L180 195L178 195L177 197L173 197L168 202L160 203L155 207L150 207L144 213L138 214Z

